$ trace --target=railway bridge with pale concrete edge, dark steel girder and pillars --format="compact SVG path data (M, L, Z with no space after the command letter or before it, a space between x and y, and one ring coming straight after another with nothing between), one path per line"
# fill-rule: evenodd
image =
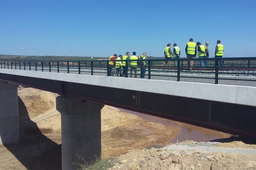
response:
M247 84L255 85L255 77L217 77L216 83L214 75L212 83L185 82L81 74L80 64L80 74L74 74L76 70L68 63L62 72L59 66L53 72L54 63L46 67L24 63L3 62L0 69L0 143L19 141L18 85L57 93L63 169L75 169L71 165L76 162L75 154L83 155L86 161L100 156L104 104L256 139L256 87ZM182 74L177 76L186 79ZM193 79L203 80L204 76L208 75ZM220 80L233 83L219 84Z

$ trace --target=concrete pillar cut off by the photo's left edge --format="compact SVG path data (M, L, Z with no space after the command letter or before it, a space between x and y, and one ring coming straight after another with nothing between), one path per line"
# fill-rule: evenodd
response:
M18 85L0 81L0 144L19 141Z

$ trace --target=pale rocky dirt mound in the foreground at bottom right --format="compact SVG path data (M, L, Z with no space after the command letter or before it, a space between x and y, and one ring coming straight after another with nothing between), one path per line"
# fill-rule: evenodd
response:
M256 169L256 155L164 148L133 150L110 159L109 170L240 170Z

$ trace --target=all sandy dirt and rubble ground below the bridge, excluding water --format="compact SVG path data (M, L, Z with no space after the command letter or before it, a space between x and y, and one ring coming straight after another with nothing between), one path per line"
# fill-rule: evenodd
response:
M0 145L0 170L61 169L61 119L55 108L57 94L19 87L18 96L20 142ZM256 169L256 156L247 152L160 149L159 146L168 145L180 134L180 126L168 126L153 119L148 121L111 106L104 106L101 111L101 130L102 158L110 159L111 169ZM235 139L208 142L207 147L256 149L255 145ZM186 141L178 143L177 147L184 147L182 143L188 147L206 145Z

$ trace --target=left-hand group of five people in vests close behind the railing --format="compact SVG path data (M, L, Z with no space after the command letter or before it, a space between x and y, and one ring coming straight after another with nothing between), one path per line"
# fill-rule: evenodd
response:
M139 60L147 60L146 53L144 52L141 56L136 56L136 52L132 52L132 56L127 52L124 56L114 54L109 57L108 64L108 76L112 76L112 69L115 66L116 68L116 76L119 77L128 77L128 69L130 68L130 77L134 75L134 78L137 78L137 67L140 66L140 78L145 77L146 65L147 61L139 61ZM123 61L119 61L123 60ZM131 60L131 61L130 61ZM134 74L132 74L134 72Z

